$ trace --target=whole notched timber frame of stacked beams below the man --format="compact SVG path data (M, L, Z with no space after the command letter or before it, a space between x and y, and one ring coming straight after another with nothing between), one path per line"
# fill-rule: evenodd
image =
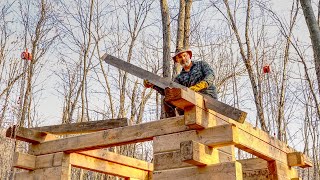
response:
M30 143L28 153L14 155L14 167L27 170L16 173L15 179L69 180L74 166L140 180L297 180L294 167L312 165L304 154L264 131L207 109L198 93L166 89L165 100L184 109L185 115L133 126L118 119L32 129L10 127L7 137ZM224 114L232 114L232 109L225 110ZM55 136L84 132L89 133ZM102 149L150 140L153 163ZM236 160L235 147L257 158Z

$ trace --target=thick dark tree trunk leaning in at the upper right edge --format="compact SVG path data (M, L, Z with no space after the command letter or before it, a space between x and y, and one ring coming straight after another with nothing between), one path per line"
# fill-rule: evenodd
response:
M314 64L318 79L318 92L320 94L320 29L311 6L311 1L300 0L300 3L310 33L314 53Z

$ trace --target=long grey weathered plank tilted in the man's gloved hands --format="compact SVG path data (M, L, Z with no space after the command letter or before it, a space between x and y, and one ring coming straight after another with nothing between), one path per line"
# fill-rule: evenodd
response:
M181 91L183 91L187 94L189 92L195 93L194 91L188 89L185 86L182 86L181 84L175 83L175 82L171 81L170 79L160 77L156 74L153 74L149 71L146 71L138 66L130 64L126 61L123 61L123 60L121 60L117 57L114 57L112 55L109 55L107 53L104 54L101 57L101 59L103 59L106 63L108 63L112 66L115 66L121 70L124 70L132 75L135 75L135 76L142 78L142 79L147 79L148 81L150 81L151 83L157 85L158 87L160 87L162 89L179 88L179 89L181 89ZM229 106L225 103L222 103L220 101L217 101L213 98L206 97L204 99L204 101L206 104L206 108L212 109L220 114L223 114L227 117L230 117L235 121L243 122L247 116L246 112L241 111L239 109L236 109L236 108Z

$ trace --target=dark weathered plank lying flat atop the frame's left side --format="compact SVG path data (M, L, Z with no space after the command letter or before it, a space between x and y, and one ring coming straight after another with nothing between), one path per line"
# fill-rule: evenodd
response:
M101 131L106 129L113 129L118 127L128 126L127 118L108 119L101 121L89 121L71 124L60 124L53 126L43 126L31 128L33 130L49 132L52 134L76 134L76 133L89 133Z

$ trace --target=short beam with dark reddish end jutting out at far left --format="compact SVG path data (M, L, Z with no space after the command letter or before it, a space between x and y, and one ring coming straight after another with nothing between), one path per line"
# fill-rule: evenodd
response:
M15 138L20 141L25 141L28 143L41 143L44 141L50 141L56 139L56 136L48 134L45 132L40 132L24 127L11 126L7 129L6 137Z

